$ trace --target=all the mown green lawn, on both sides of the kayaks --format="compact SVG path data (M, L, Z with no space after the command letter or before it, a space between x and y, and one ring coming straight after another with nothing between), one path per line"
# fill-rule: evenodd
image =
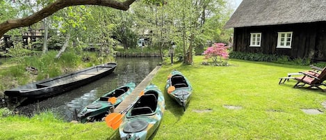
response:
M293 88L294 80L279 85L288 72L308 66L231 60L230 66L206 66L202 56L194 65L163 65L152 80L163 92L172 70L181 71L193 85L184 112L165 93L166 110L154 139L325 139L326 114L309 115L301 109L326 111L326 93ZM326 87L323 87L326 88ZM242 109L227 109L225 105ZM0 117L0 139L116 139L105 123L74 124L51 114L28 119Z

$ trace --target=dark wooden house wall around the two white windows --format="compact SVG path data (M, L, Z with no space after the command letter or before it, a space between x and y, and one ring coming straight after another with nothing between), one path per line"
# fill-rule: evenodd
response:
M291 49L276 48L278 32L287 31L293 32ZM250 33L261 33L261 47L249 47ZM234 51L326 61L326 22L235 28Z

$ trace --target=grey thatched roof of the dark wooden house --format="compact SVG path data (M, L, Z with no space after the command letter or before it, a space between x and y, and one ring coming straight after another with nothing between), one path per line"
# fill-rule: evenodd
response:
M225 28L326 21L326 0L243 0Z

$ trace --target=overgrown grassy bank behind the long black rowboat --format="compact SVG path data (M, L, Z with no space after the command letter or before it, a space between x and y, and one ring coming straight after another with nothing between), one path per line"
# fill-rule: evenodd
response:
M3 91L6 89L47 77L74 72L102 62L114 61L112 56L100 58L98 54L93 52L75 52L74 50L69 50L63 53L59 59L54 59L57 53L50 51L47 54L39 53L31 56L8 58L6 63L0 65L0 80L7 81L0 84L0 98L3 97ZM34 75L26 71L27 67L37 68L38 74Z

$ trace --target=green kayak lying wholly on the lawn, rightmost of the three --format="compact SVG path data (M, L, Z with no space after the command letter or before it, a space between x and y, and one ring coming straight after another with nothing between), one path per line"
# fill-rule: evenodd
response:
M168 95L177 101L184 108L184 111L186 111L186 105L193 93L193 87L189 80L181 72L173 70L168 75L165 88L168 91Z

